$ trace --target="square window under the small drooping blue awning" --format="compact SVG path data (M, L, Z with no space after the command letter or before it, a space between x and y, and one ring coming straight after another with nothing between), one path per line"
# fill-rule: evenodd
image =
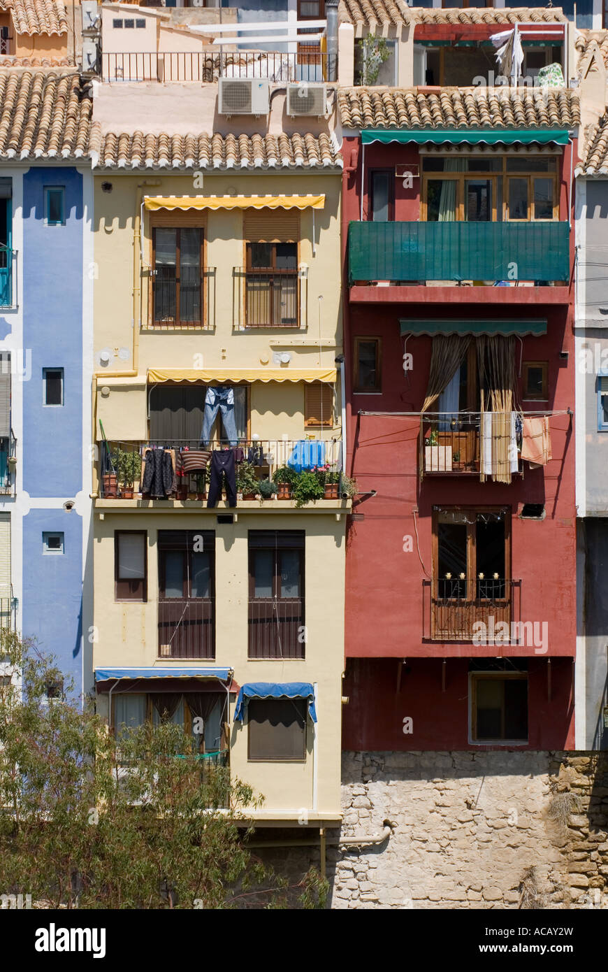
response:
M247 707L249 759L303 762L307 710L302 699L252 699Z

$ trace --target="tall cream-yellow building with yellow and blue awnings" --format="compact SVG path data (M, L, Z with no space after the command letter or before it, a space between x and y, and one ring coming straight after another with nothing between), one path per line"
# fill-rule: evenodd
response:
M194 135L182 95L145 134L162 94L121 131L113 93L93 134L98 710L115 730L198 716L260 822L321 826L341 816L351 501L247 496L286 465L342 468L341 160L326 121L289 130L283 95L232 133L203 86L215 131Z

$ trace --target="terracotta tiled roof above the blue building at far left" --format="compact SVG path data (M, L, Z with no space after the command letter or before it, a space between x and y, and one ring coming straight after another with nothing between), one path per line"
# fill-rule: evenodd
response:
M78 158L92 99L75 71L0 71L0 158Z

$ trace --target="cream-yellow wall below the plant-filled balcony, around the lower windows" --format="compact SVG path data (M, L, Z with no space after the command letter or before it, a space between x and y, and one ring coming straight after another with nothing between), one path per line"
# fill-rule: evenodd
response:
M104 519L95 514L93 566L97 642L93 664L106 666L162 666L192 664L157 659L158 530L216 531L216 661L202 662L234 669L239 685L247 681L310 681L318 684L317 767L309 723L306 762L248 762L247 726L233 723L230 712L230 766L234 777L251 783L265 797L260 816L297 818L340 813L341 696L344 657L345 514L335 510L286 512L268 509L237 510L238 522L218 524L217 510L196 513L130 511L106 505ZM117 603L114 591L115 530L148 530L148 604ZM306 531L305 597L308 642L303 660L250 661L248 648L248 530ZM195 664L195 663L194 663ZM107 696L99 697L99 711L107 715ZM313 789L317 772L317 811Z

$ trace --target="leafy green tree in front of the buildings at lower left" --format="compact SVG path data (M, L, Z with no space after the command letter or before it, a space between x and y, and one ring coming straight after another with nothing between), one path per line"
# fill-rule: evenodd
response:
M319 907L247 848L262 798L165 722L117 739L53 660L0 632L0 892L51 907ZM253 888L255 890L253 891Z

